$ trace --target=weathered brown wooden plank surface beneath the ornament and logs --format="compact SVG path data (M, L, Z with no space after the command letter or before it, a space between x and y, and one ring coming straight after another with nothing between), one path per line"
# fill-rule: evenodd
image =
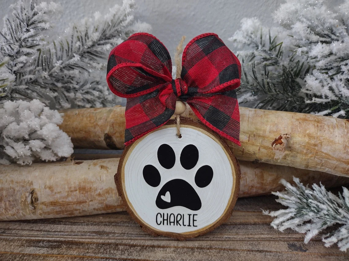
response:
M239 198L230 219L187 241L153 237L126 212L60 219L0 222L0 260L349 260L321 235L280 232L262 209L276 210L274 196Z

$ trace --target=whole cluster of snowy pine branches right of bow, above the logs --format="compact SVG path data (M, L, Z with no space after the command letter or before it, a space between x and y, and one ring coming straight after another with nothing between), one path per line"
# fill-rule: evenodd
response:
M349 118L348 12L347 0L337 10L324 0L288 1L275 12L279 26L269 35L257 19L243 19L230 38L249 47L239 55L242 100L257 100L252 106L258 108Z

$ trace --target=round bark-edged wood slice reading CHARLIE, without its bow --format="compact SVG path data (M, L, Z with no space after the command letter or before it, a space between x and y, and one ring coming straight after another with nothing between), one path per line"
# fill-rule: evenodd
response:
M236 203L240 167L205 125L174 120L127 146L115 182L127 211L153 235L196 237L226 221Z

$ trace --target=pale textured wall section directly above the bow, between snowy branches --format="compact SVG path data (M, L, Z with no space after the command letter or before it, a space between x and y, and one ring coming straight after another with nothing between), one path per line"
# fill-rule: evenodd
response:
M240 27L243 17L259 17L272 23L270 14L280 0L138 0L139 17L153 26L153 34L174 53L182 35L186 43L196 35L217 33L231 47L228 38Z

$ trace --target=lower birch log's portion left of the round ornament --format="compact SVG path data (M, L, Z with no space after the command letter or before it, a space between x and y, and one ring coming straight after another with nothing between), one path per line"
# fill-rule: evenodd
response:
M42 219L123 209L119 159L0 165L0 220Z

